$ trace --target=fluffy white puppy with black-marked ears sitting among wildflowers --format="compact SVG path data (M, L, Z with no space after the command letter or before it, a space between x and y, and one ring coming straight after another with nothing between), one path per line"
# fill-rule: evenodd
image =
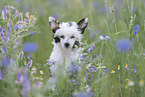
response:
M88 18L83 18L78 23L62 22L59 23L54 17L49 17L49 23L54 33L53 51L49 60L54 62L50 66L52 76L59 66L64 66L66 70L71 70L71 63L79 58L80 42L88 24Z

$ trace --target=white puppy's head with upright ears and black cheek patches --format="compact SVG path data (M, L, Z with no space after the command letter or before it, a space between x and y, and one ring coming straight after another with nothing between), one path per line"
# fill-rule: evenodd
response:
M88 18L76 22L59 22L54 17L49 17L49 23L54 33L55 43L60 43L65 49L80 46L82 34L88 24Z

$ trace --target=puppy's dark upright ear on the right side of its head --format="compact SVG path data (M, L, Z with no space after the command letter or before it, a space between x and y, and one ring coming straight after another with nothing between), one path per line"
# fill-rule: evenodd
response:
M84 33L84 30L87 27L87 25L88 25L88 18L83 18L78 22L78 29L81 30L81 34Z

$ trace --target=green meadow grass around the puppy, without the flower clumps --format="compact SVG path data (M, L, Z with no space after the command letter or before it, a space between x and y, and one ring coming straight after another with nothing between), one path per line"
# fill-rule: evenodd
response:
M98 5L93 6L94 3ZM144 84L140 82L145 81L145 1L144 0L22 0L15 2L15 0L1 0L0 11L6 5L15 6L19 12L25 14L27 11L37 17L37 22L34 27L29 30L34 30L35 35L27 35L21 38L21 43L16 50L13 50L13 38L16 35L13 33L12 40L9 43L3 43L1 46L7 46L7 54L10 58L14 58L14 63L11 66L3 68L0 65L0 70L4 75L4 79L0 80L0 97L20 97L23 94L22 84L16 84L17 73L25 71L24 62L28 63L26 56L20 60L19 50L25 42L36 42L39 45L37 52L32 53L33 65L36 67L36 73L31 74L31 68L28 70L28 79L30 80L31 89L27 94L28 97L71 97L78 95L78 93L93 92L93 97L144 97ZM111 10L109 10L111 8ZM1 13L1 12L0 12ZM88 27L84 33L82 40L82 47L85 48L83 53L93 45L96 48L87 54L86 58L79 63L82 70L74 77L72 73L67 73L66 76L61 76L55 91L50 91L48 87L49 66L45 66L47 59L49 59L53 45L53 33L48 24L48 17L51 15L58 15L58 20L62 21L79 21L87 17L89 19ZM1 17L1 16L0 16ZM24 16L25 17L25 16ZM14 19L13 22L16 20ZM7 22L7 21L6 21ZM0 18L1 27L6 25ZM133 27L139 24L139 32L134 34ZM96 30L99 33L96 33ZM93 38L90 38L90 33L94 33ZM110 41L100 40L101 35L110 36ZM128 38L130 41L134 39L132 49L128 52L118 52L116 50L116 42L120 38ZM2 41L2 40L1 40ZM23 52L23 51L22 51ZM98 57L101 54L102 57ZM6 56L0 52L0 58ZM91 60L90 57L97 58ZM87 61L91 62L91 67L98 68L97 72L90 72L87 69ZM2 64L2 60L0 61ZM126 68L126 64L128 69ZM120 69L118 69L118 65ZM136 72L133 75L133 67ZM109 70L109 73L106 72ZM43 70L44 74L40 74ZM111 71L115 73L111 73ZM87 73L87 75L86 75ZM41 77L43 80L33 79ZM101 75L101 76L100 76ZM140 79L139 79L139 76ZM40 78L41 78L40 77ZM89 81L88 78L92 77ZM77 80L79 84L71 84L70 80ZM129 79L129 80L127 80ZM40 88L36 88L36 82L41 81L43 84ZM128 83L134 82L133 86ZM87 86L89 88L87 88ZM83 97L83 96L78 96Z

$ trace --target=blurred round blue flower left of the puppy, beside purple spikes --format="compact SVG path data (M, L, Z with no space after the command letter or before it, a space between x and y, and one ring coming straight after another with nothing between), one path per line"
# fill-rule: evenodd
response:
M24 44L24 52L26 53L33 53L38 50L38 44L34 42L27 42Z

